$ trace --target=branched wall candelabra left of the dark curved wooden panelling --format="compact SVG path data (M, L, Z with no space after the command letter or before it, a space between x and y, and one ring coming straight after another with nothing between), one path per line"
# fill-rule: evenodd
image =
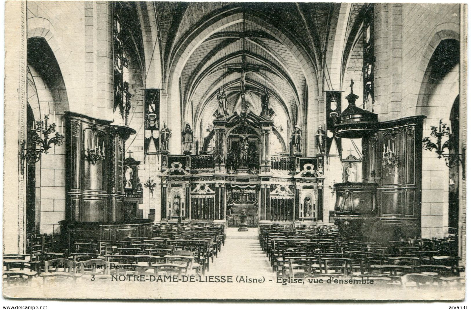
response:
M21 143L21 167L24 167L24 160L30 163L38 162L41 159L41 154L48 154L49 149L53 145L62 145L64 135L64 122L61 122L61 126L56 125L56 112L52 114L51 121L48 122L50 115L45 115L44 120L34 121L32 128L28 129L27 137L39 148L25 148L26 141ZM52 138L49 135L56 133ZM21 169L21 174L24 173L24 169Z

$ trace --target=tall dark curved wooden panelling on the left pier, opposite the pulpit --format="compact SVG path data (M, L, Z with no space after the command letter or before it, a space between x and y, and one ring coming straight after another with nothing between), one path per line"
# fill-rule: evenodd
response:
M123 219L124 143L134 129L66 112L65 214L68 221ZM90 156L93 150L102 157Z

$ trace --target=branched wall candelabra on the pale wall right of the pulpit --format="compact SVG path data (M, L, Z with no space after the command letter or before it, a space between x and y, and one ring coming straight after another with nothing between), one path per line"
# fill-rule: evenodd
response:
M438 158L445 158L445 163L448 167L456 167L460 163L463 166L463 180L466 179L466 148L462 148L461 153L450 152L454 150L455 145L450 142L450 139L453 138L453 134L450 133L450 127L447 124L443 123L440 119L439 126L430 127L430 136L435 138L435 143L432 142L430 137L425 137L422 139L423 149L427 151L434 151L438 154ZM442 141L448 137L447 141ZM448 153L445 152L445 149L448 149Z

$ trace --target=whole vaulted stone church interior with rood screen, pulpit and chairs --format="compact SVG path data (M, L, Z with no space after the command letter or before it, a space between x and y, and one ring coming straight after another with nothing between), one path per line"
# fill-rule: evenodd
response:
M4 283L463 287L464 5L17 2Z

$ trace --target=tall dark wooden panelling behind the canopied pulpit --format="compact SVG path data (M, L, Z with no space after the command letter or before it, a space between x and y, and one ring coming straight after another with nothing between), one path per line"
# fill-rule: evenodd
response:
M378 183L377 216L421 216L423 116L381 122L363 139L363 182Z

